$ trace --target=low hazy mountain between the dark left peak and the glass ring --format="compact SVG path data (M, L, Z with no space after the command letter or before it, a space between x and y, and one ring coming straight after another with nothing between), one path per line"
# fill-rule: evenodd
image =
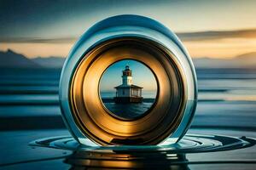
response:
M61 68L65 62L63 57L37 57L32 59L38 65L48 67L48 68Z

